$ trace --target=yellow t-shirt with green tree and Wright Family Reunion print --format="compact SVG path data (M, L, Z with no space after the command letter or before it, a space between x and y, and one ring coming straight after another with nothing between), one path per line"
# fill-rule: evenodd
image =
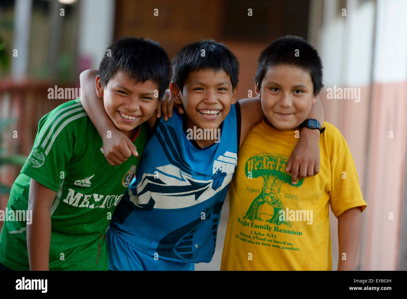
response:
M323 127L319 173L295 185L284 172L295 131L263 120L247 133L229 187L221 270L332 269L329 205L336 217L367 205L348 144L332 124Z

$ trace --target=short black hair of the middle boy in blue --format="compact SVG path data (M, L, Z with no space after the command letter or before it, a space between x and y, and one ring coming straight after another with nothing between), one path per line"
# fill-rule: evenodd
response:
M172 63L171 81L180 91L184 88L185 80L190 72L199 70L224 70L230 76L233 89L239 81L239 61L236 56L224 44L212 39L202 39L185 45L174 56Z

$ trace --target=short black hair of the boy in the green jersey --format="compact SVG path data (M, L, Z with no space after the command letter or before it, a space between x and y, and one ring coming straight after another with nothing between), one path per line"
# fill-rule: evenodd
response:
M142 37L122 37L106 50L99 65L99 76L103 86L122 71L130 78L158 84L158 100L164 96L169 85L170 59L165 50L155 41Z

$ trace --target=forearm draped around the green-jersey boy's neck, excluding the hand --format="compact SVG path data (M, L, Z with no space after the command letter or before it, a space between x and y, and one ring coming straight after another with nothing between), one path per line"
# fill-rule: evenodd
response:
M109 118L103 105L103 98L96 94L95 79L98 70L85 70L79 76L81 81L81 103L90 120L102 137L107 131L117 130L113 121Z

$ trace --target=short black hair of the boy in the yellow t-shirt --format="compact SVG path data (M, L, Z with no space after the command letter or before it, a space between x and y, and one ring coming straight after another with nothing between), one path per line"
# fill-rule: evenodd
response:
M295 56L295 53L298 53L298 56ZM256 76L253 78L259 90L267 70L281 64L302 68L309 72L314 85L314 96L317 96L324 87L322 84L322 61L317 50L302 37L286 35L272 41L260 53Z

